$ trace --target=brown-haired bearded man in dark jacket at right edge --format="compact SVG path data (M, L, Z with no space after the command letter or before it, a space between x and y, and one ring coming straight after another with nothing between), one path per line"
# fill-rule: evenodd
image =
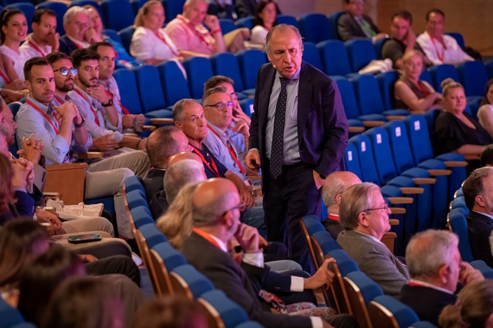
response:
M491 149L491 145L490 145ZM472 172L462 185L469 214L467 230L475 260L483 260L493 267L493 168L480 167Z

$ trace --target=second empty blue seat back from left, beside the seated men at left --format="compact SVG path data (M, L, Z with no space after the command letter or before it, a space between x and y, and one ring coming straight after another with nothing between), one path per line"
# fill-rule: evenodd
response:
M166 100L162 94L158 68L156 66L143 65L134 68L133 71L137 81L137 89L139 90L140 105L144 113L165 108Z

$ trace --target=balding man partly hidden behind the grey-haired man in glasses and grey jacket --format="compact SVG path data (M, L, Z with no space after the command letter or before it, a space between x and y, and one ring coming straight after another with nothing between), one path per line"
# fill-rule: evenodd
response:
M333 172L328 174L322 186L322 200L327 207L328 218L322 220L325 229L334 239L344 230L339 222L339 207L342 193L350 186L361 184L360 178L349 171Z

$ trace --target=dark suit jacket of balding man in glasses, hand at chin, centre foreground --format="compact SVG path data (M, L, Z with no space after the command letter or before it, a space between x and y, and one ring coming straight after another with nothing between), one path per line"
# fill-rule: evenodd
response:
M240 267L229 254L195 232L183 241L181 253L190 264L211 279L215 288L243 307L251 320L265 327L312 327L308 317L273 314L268 304L261 303L257 295L269 272L267 267L248 264Z

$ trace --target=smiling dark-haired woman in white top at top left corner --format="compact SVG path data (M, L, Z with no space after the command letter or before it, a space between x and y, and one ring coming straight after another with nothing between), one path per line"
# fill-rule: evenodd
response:
M0 54L6 77L10 81L24 79L24 60L20 51L20 44L27 35L26 15L19 9L3 9L0 13L1 46Z

